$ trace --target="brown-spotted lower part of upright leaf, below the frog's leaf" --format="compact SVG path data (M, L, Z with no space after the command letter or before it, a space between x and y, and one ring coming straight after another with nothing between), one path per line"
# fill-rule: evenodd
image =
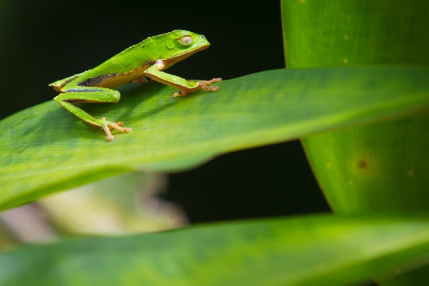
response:
M311 166L336 213L428 213L429 136L422 133L428 126L425 112L305 138Z

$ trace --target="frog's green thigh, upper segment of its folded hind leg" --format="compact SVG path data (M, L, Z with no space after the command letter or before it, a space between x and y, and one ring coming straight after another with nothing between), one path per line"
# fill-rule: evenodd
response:
M66 91L55 96L55 101L69 102L118 102L120 99L119 91L113 89L82 89L82 91Z

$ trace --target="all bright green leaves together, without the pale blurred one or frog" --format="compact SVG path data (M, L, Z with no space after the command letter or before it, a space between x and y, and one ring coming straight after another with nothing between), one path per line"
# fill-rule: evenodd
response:
M282 6L289 69L221 82L217 96L181 101L158 84L122 87L116 108L89 110L134 127L111 143L98 144L102 134L95 138L55 102L2 120L0 208L129 170L185 170L224 152L303 138L336 215L23 247L0 254L0 283L344 285L376 277L394 285L427 279L421 266L429 253L428 39L418 36L428 4L284 0ZM410 155L400 156L404 152Z

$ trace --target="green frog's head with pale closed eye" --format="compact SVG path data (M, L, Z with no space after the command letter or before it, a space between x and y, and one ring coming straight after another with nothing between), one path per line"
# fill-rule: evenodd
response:
M174 30L165 35L167 37L165 37L165 51L162 57L168 66L210 46L206 37L188 30Z

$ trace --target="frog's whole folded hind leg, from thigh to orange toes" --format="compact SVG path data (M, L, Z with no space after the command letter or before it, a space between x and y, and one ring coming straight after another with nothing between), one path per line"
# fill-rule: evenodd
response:
M88 114L86 111L80 109L73 102L118 102L120 98L119 91L113 89L105 89L102 87L79 87L79 89L68 89L58 96L55 96L54 100L65 109L69 110L75 116L81 118L86 123L93 126L102 127L104 132L107 134L107 140L112 141L113 135L110 129L117 129L120 132L131 132L131 128L121 127L124 123L122 122L111 122L102 117L100 119L95 118Z

